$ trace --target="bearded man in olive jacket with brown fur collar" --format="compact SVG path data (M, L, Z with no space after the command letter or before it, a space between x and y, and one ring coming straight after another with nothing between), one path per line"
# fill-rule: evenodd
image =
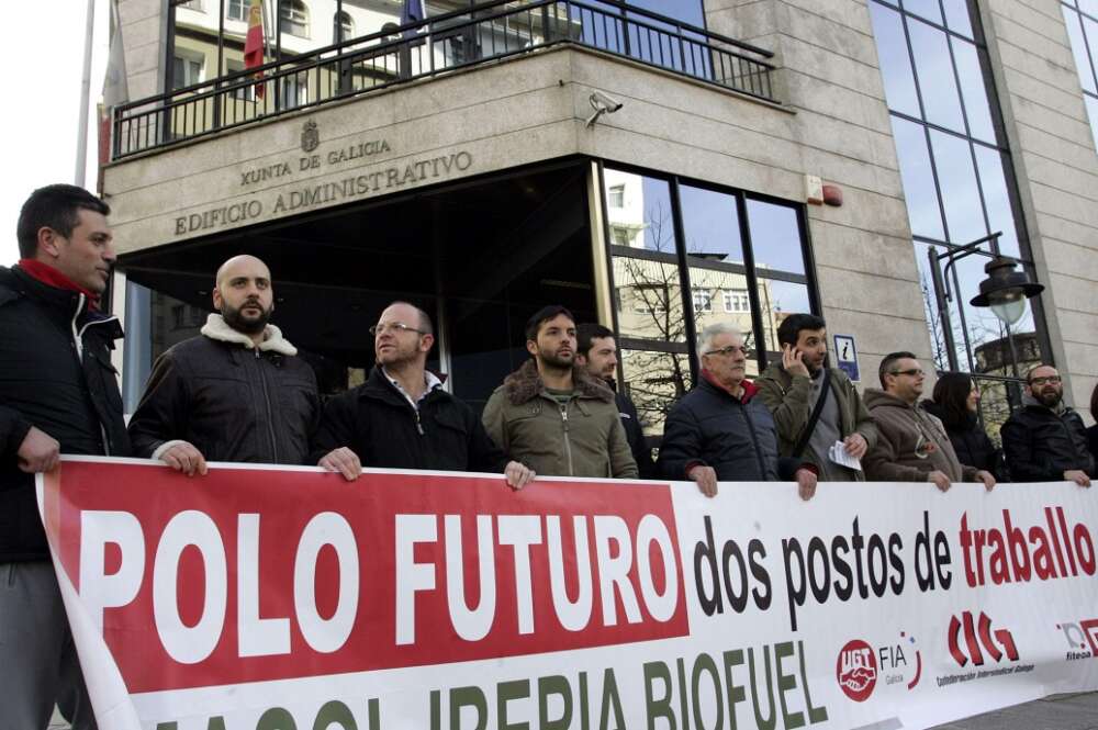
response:
M560 305L526 323L533 356L484 406L489 436L539 474L636 479L614 392L575 363L575 317Z

